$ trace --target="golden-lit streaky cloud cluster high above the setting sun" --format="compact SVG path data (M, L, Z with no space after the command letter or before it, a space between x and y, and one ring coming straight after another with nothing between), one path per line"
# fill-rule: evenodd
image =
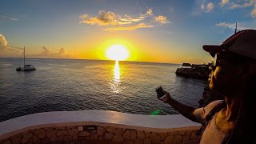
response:
M120 15L115 14L111 11L99 10L98 16L90 17L88 14L82 14L80 16L80 23L85 23L88 25L97 25L97 26L107 26L103 30L106 31L117 31L117 30L137 30L140 28L150 28L154 27L153 24L146 21L149 19L154 19L162 24L166 24L167 18L163 15L154 17L153 10L148 8L145 14L138 14L138 16L131 16L128 14Z

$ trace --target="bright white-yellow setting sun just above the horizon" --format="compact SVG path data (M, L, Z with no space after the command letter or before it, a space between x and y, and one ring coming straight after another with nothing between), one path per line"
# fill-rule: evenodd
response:
M126 46L113 45L106 50L106 57L115 61L123 61L129 57L129 52Z

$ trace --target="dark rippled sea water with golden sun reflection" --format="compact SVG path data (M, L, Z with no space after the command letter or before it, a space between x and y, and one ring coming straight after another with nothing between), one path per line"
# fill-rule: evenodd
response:
M26 64L37 70L18 72L19 62L0 58L0 122L63 110L178 114L156 98L154 89L161 85L172 98L197 107L206 86L176 76L177 64L30 58Z

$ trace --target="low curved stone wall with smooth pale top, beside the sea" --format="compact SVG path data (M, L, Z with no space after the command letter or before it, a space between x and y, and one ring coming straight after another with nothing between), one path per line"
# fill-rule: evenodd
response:
M0 122L0 143L184 143L198 138L199 126L180 114L54 111Z

